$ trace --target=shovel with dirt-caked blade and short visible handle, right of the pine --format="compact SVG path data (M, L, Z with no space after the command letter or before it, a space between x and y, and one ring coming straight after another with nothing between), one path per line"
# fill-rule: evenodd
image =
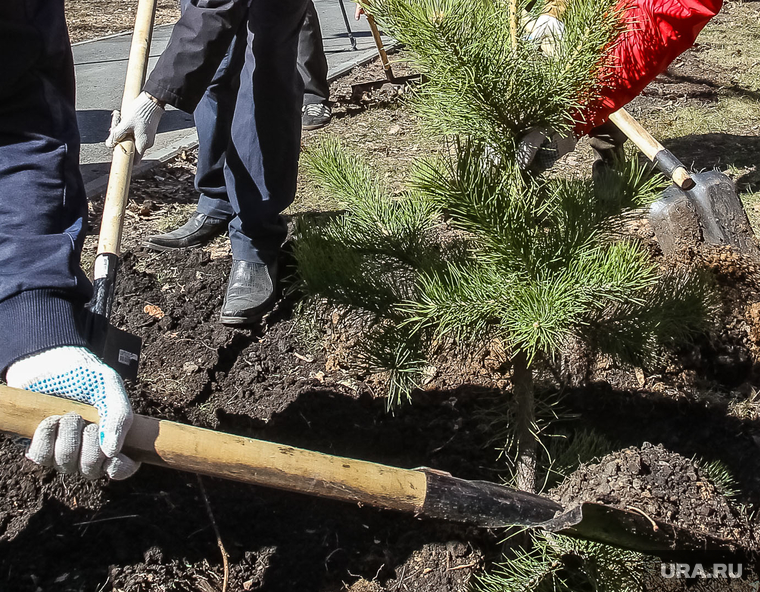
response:
M625 109L612 121L655 166L673 180L649 210L649 222L665 255L703 244L730 246L760 258L747 213L731 179L719 171L689 173Z

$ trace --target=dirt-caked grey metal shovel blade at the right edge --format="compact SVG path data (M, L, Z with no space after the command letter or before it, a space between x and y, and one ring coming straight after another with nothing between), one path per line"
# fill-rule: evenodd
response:
M671 185L649 210L657 242L666 255L684 246L730 246L760 258L747 213L734 183L719 171L693 173L692 189Z

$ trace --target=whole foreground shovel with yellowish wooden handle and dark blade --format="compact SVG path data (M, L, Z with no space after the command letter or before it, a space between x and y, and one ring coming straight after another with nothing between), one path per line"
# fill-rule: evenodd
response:
M69 399L0 386L0 430L31 437L40 421L97 411ZM428 468L401 469L135 415L124 452L135 460L414 515L502 528L539 528L662 557L738 554L736 543L594 503L564 508L540 495Z

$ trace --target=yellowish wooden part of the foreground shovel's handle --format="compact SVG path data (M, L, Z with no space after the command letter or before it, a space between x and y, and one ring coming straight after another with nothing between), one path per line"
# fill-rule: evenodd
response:
M51 395L0 386L0 430L27 438L50 415L73 411L99 421L95 408ZM124 452L142 462L417 513L427 491L426 475L361 460L330 456L135 415Z

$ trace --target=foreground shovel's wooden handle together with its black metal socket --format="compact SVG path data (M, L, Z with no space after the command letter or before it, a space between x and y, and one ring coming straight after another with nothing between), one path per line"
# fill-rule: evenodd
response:
M50 415L94 407L0 385L0 430L32 437ZM135 415L123 452L145 463L388 510L488 527L536 526L557 502L487 481L426 468L401 469Z

